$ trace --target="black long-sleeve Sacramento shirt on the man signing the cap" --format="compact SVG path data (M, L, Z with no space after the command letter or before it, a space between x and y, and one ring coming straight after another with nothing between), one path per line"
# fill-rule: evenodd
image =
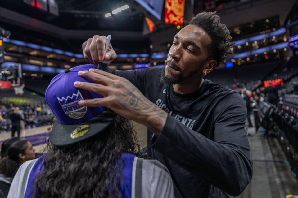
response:
M159 136L148 130L148 155L169 169L176 198L237 196L246 188L253 170L238 93L205 80L196 92L178 94L160 82L158 68L104 70L128 79L168 113Z

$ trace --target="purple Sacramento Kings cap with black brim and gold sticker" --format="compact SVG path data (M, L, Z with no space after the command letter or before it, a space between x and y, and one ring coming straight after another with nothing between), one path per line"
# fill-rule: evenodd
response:
M56 75L50 82L45 99L57 121L50 133L50 142L63 146L79 142L105 130L116 113L106 107L84 107L80 100L102 98L101 94L78 89L75 81L95 83L78 75L81 70L97 69L94 65L79 65Z

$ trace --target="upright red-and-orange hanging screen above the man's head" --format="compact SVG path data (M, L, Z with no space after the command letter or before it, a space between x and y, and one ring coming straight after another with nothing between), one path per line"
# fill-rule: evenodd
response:
M165 23L183 25L185 0L165 0Z

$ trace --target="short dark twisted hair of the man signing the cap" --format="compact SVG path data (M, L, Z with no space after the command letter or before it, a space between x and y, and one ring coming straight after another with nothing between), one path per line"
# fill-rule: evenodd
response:
M217 66L220 65L225 58L228 57L232 37L225 24L220 23L219 16L216 12L201 12L197 14L189 22L191 25L196 25L202 28L211 37L211 46L209 49L209 58L217 61Z

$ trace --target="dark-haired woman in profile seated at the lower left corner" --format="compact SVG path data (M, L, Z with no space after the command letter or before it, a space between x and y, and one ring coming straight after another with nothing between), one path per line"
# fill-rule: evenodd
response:
M7 197L11 181L20 165L34 158L34 149L29 141L18 140L9 146L7 157L0 160L0 189L5 197Z

